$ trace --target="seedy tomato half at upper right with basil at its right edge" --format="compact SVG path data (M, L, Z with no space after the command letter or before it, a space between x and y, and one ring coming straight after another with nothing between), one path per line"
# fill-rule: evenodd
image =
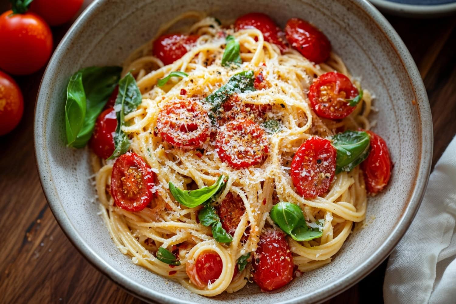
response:
M359 94L350 79L338 72L327 72L312 82L309 100L315 113L328 119L343 119L356 108L348 99Z

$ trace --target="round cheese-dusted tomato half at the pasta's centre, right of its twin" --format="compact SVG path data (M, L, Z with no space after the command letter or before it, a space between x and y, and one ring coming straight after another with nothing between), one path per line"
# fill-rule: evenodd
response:
M220 128L215 147L222 161L239 169L259 164L268 153L268 140L258 124L236 119Z

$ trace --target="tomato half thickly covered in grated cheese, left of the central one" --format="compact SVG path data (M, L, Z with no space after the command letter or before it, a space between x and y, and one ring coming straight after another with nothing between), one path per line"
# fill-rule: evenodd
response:
M167 103L158 113L157 125L161 137L181 149L194 149L209 138L211 120L201 103L181 99Z

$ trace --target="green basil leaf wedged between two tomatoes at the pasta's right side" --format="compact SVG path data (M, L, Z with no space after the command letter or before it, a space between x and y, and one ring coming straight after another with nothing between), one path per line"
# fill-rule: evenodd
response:
M367 132L345 131L332 137L332 145L336 148L336 174L351 171L361 164L369 155L370 138Z

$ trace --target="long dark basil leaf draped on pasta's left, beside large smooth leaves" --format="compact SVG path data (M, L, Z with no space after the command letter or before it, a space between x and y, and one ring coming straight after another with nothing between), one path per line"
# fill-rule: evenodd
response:
M142 95L135 77L129 72L119 81L119 93L114 104L114 110L117 117L117 128L113 136L114 152L109 156L108 160L112 160L119 155L125 154L130 147L130 139L127 134L122 131L122 126L125 124L125 115L135 111L141 104Z

